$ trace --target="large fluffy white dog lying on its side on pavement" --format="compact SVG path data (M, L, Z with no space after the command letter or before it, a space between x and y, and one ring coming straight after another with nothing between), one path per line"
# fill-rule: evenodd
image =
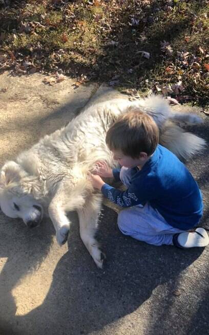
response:
M101 208L88 172L96 161L115 166L105 142L108 128L129 110L151 115L160 129L160 143L181 159L200 153L205 141L184 132L175 122L201 122L196 115L172 113L159 97L140 101L115 99L84 110L65 128L45 136L30 150L8 161L0 176L0 206L9 217L23 219L28 227L38 226L48 211L59 245L67 241L70 222L66 213L77 210L80 237L94 262L102 268L103 254L94 238Z

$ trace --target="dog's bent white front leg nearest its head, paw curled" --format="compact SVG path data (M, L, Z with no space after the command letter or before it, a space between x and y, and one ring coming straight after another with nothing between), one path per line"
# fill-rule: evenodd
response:
M58 193L49 204L49 216L56 230L56 240L59 246L66 243L70 229L70 222L66 216L65 208L65 197Z

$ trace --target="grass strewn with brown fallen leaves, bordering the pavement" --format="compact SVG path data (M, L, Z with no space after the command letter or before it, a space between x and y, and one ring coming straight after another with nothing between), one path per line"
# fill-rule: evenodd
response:
M85 75L87 81L113 81L119 89L134 88L140 95L181 81L184 90L177 98L189 96L206 104L208 2L166 4L163 0L13 1L0 9L0 60L2 55L2 63L14 71L27 61L39 71L61 69L78 80ZM170 43L170 57L161 50L161 41ZM149 52L150 58L138 51ZM181 51L190 52L187 64L178 56ZM168 66L171 72L166 71ZM30 68L25 66L25 72ZM169 95L176 97L174 92Z

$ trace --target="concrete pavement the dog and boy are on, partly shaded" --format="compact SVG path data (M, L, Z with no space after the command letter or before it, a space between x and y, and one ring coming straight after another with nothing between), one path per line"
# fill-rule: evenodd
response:
M119 93L105 85L74 89L43 76L0 76L0 161L68 123L83 106ZM175 107L179 108L179 106ZM193 109L180 107L180 109ZM208 117L192 131L208 139ZM203 192L208 220L208 154L188 164ZM98 239L107 255L99 270L83 246L76 213L68 244L57 246L50 220L29 230L0 214L1 335L206 335L209 248L149 246L120 234L117 213L103 206ZM107 206L108 205L108 206Z

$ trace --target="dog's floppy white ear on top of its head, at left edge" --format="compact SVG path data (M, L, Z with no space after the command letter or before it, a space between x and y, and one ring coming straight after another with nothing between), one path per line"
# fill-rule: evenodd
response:
M6 162L2 167L0 175L0 187L4 187L12 182L17 182L21 177L21 167L13 162Z

